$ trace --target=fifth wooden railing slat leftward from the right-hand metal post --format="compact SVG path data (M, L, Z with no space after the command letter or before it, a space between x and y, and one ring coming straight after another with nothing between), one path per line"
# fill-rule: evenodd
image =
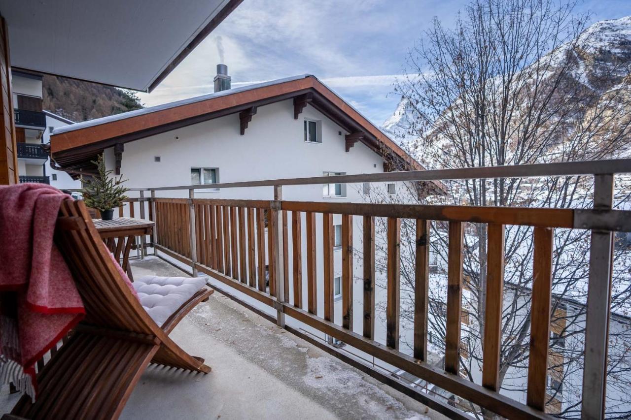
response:
M401 259L401 219L387 219L387 306L386 346L399 349L399 276Z

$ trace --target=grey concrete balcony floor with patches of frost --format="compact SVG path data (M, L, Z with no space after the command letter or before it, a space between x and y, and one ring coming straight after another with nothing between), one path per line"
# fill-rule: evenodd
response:
M136 278L186 276L156 257L132 264ZM150 365L121 419L444 418L220 293L170 336L213 371L192 375ZM0 412L16 398L5 385Z

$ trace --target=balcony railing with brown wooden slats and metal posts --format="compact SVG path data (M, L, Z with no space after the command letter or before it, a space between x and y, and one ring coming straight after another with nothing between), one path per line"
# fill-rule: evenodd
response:
M550 351L553 231L559 228L591 230L582 390L583 395L589 397L582 401L582 417L596 419L603 417L604 413L612 233L631 231L631 211L611 209L615 173L631 173L631 160L342 175L214 185L221 189L273 186L274 198L270 201L200 199L194 196L196 189L203 188L199 185L159 187L139 189L141 198L134 201L141 203L141 216L145 213L144 202L148 202L149 217L156 223L153 238L156 250L190 265L194 274L208 274L264 305L273 307L276 309L279 325L284 326L285 317L291 317L447 392L511 419L547 417L545 404ZM283 185L568 175L594 176L593 209L300 202L282 199ZM156 192L162 190L189 190L189 198L156 197ZM151 198L144 197L147 191L151 192ZM333 214L340 214L342 219L341 325L333 322ZM316 218L322 221L321 232L316 231ZM385 345L375 341L374 337L375 218L387 219ZM416 225L412 355L404 354L398 349L401 219L411 219ZM449 226L444 370L426 363L430 221L444 221ZM463 224L469 222L488 225L487 298L481 385L459 375L459 354L462 346ZM362 308L355 308L353 303L354 223L362 226L363 236ZM305 225L304 238L302 225ZM534 227L526 404L498 392L506 225ZM266 227L268 235L265 234ZM316 248L316 235L322 237L320 249ZM302 271L303 248L307 254L305 272ZM316 255L319 252L323 254L322 267L316 266ZM292 272L288 268L290 255L293 259ZM318 271L324 273L323 313L317 312ZM291 295L288 293L290 289L293 290ZM353 325L355 310L363 311L362 325ZM355 330L362 331L362 334Z

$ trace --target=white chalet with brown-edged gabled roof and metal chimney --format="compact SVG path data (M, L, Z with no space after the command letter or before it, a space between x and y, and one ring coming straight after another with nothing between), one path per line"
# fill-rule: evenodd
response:
M76 177L93 171L91 161L104 152L108 168L129 187L209 184L195 197L267 200L273 197L269 187L220 190L211 184L423 169L315 76L230 89L227 67L217 67L215 93L55 129L51 153L56 165ZM441 191L440 184L301 185L286 187L283 199L364 202L371 192L409 190ZM168 192L171 197L187 194ZM334 298L341 305L342 221L339 214L333 217ZM321 231L321 220L316 224ZM355 230L359 240L361 230ZM361 296L362 285L355 286ZM361 322L362 313L355 317Z

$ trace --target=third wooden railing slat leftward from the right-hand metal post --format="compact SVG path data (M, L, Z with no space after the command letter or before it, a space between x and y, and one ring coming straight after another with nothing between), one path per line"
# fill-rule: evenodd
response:
M445 371L458 374L460 364L460 324L463 300L463 224L449 222L449 259L447 260L447 331L445 333Z

